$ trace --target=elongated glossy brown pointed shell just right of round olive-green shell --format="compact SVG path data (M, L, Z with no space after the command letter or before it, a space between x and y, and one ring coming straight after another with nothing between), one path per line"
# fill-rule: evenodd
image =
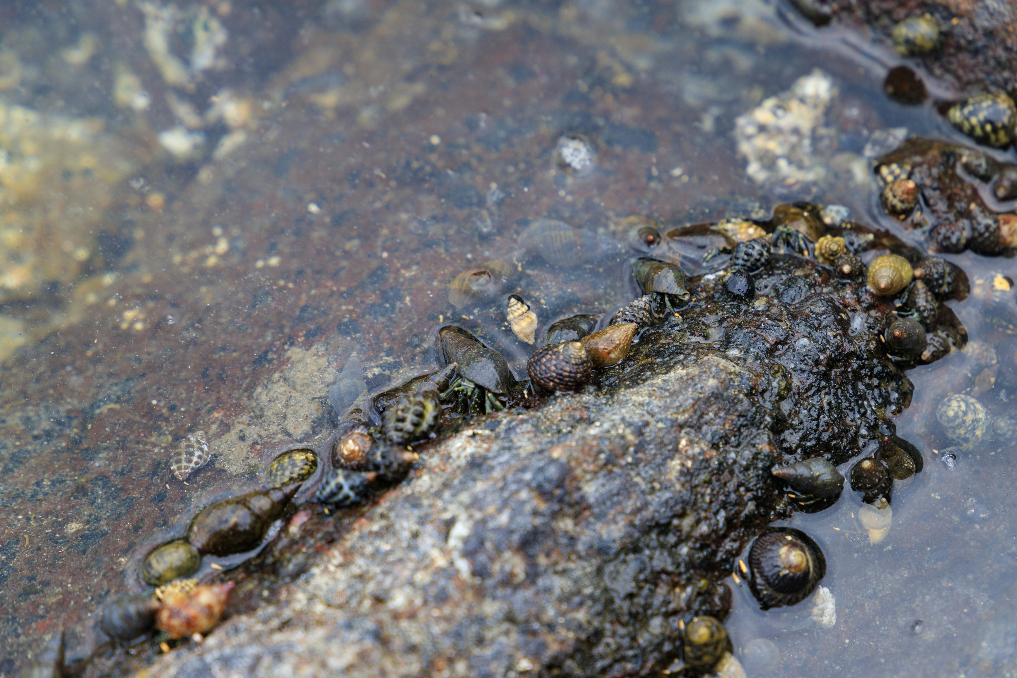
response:
M216 556L250 551L261 543L299 487L293 483L210 504L191 520L187 541L198 553Z

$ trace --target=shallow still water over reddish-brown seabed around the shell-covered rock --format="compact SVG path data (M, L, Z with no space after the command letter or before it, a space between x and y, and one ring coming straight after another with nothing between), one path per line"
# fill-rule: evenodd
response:
M510 262L513 289L545 324L609 313L632 295L621 218L680 225L775 204L745 174L734 120L814 68L839 93L816 149L841 168L820 182L824 202L894 230L871 179L851 172L872 133L963 141L931 106L882 94L896 57L761 3L221 2L211 14L180 3L169 19L144 6L0 10L21 36L4 42L15 56L0 65L17 82L0 99L8 120L27 110L37 121L0 138L13 161L36 159L5 175L5 219L35 229L39 255L19 245L5 274L29 282L5 283L0 302L14 351L0 372L2 675L63 625L74 625L70 654L85 653L89 615L140 590L136 563L152 546L210 500L257 487L282 446L320 442L352 353L376 391L432 365L433 332L456 318L521 374L527 347L496 313L448 305L462 270ZM201 68L210 16L229 38ZM167 54L187 80L177 84L144 40L167 21ZM54 131L74 127L66 120L102 131L74 145ZM198 131L204 145L188 156L180 144ZM562 133L592 139L592 172L555 163ZM100 218L78 219L88 212ZM590 262L521 249L526 220L542 217L597 234ZM972 282L1017 279L1012 260L950 258ZM998 297L951 306L1015 370L1017 308L1012 291ZM817 626L807 603L762 613L731 579L736 651L774 640L775 676L1017 671L1012 451L962 454L952 470L936 451L947 445L936 406L970 388L973 369L954 354L909 373L915 397L898 433L925 470L895 494L886 540L869 543L849 493L790 521L827 555L836 624ZM979 400L1000 416L1013 396L998 379ZM215 457L185 486L170 457L198 429Z

